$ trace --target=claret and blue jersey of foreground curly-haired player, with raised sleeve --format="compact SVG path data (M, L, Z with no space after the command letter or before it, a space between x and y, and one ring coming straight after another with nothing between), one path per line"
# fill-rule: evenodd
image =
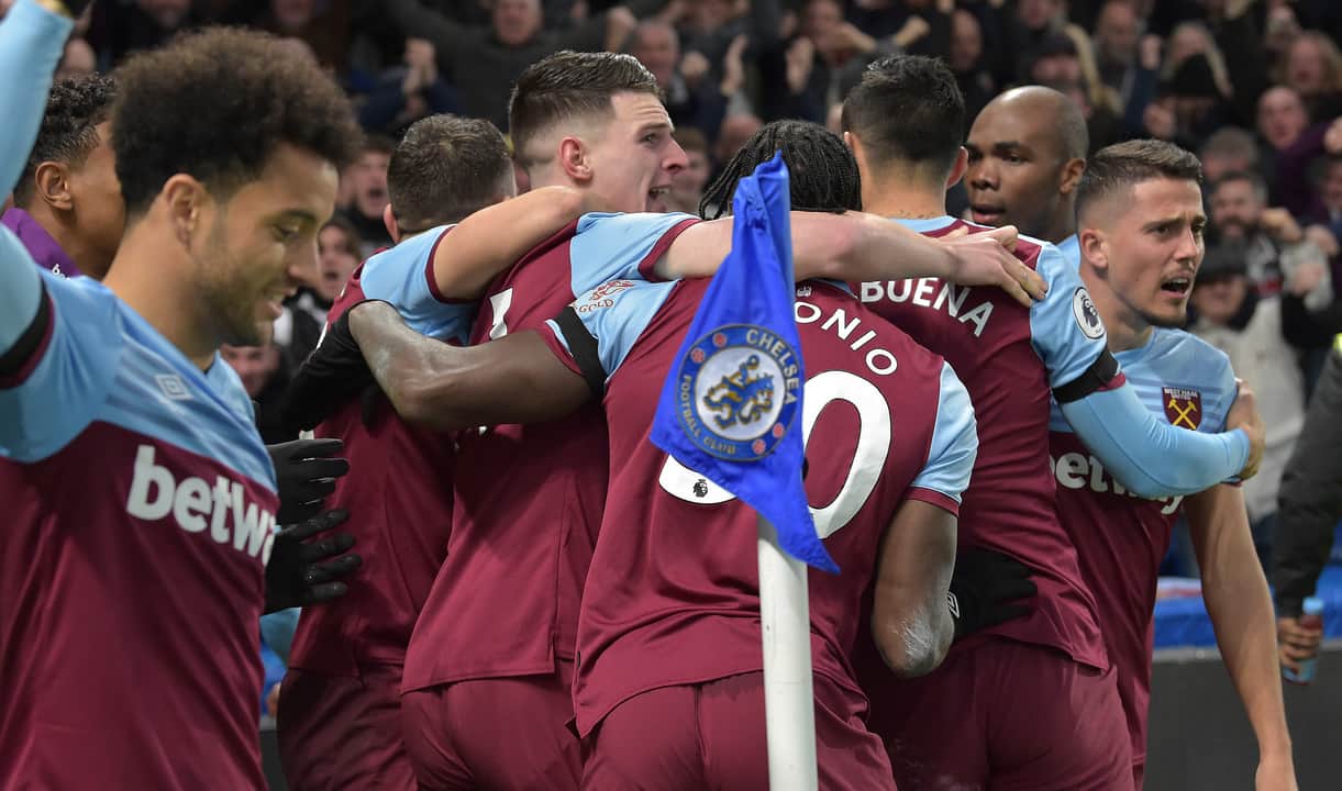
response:
M0 192L70 25L27 1L0 24ZM8 229L0 365L0 788L260 787L278 499L242 382Z

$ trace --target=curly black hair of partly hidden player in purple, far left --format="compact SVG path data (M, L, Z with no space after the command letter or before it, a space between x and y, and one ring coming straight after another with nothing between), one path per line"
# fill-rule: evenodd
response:
M98 125L111 117L115 98L117 83L102 74L67 78L51 86L38 141L13 188L15 205L31 205L38 186L34 177L43 162L60 162L70 168L83 165L98 147Z

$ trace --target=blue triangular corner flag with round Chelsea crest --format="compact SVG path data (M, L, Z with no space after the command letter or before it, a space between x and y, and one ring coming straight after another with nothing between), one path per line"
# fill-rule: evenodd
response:
M731 252L662 387L652 442L773 523L789 555L837 572L801 485L805 371L782 154L737 184L731 210Z

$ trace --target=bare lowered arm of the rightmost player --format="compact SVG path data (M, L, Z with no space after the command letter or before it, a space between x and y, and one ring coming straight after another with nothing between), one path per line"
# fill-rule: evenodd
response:
M1294 788L1272 599L1253 551L1244 493L1237 487L1212 487L1185 500L1185 509L1221 661L1257 739L1257 787Z

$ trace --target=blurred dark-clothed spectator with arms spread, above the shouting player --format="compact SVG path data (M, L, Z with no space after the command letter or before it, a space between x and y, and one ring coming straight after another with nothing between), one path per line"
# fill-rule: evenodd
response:
M431 42L437 64L460 91L462 110L507 129L507 101L522 70L557 50L619 48L639 16L667 0L629 0L569 29L542 29L541 0L495 0L490 32L466 28L419 0L386 0L392 21L407 36ZM360 229L362 231L362 228Z

